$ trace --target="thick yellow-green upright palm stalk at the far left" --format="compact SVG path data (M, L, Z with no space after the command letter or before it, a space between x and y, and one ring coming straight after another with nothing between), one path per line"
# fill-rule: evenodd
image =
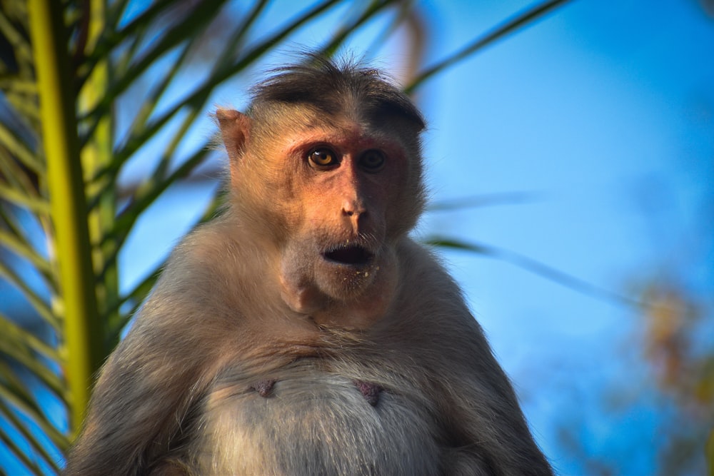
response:
M79 426L101 362L86 196L61 2L29 1L30 31L40 102L54 263L59 269L58 317L64 323L70 427Z

